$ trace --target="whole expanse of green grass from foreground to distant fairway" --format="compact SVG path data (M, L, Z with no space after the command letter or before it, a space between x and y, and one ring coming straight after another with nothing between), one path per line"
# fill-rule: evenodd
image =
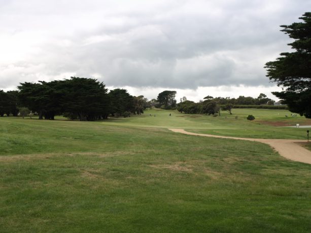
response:
M260 127L242 113L237 120L169 113L0 119L0 232L311 231L311 165L257 142L166 129ZM300 129L277 132L300 137Z

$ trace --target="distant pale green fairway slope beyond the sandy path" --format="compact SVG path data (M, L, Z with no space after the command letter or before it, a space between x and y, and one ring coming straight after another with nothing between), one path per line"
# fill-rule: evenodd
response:
M102 122L102 124L165 129L179 128L187 129L194 133L232 137L306 139L306 128L275 127L262 123L286 122L289 125L308 123L308 119L300 116L286 118L285 115L290 115L290 112L287 110L233 109L232 111L234 112L233 115L222 111L221 117L212 117L209 115L184 114L177 110L155 109L148 110L145 114L131 118L113 118ZM169 113L171 113L170 117ZM248 114L253 114L256 120L248 121L246 119Z

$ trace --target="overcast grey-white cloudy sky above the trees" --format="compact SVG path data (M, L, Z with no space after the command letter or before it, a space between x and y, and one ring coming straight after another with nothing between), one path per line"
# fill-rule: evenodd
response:
M0 89L79 76L149 99L276 99L264 64L290 51L280 25L310 10L309 0L0 0Z

